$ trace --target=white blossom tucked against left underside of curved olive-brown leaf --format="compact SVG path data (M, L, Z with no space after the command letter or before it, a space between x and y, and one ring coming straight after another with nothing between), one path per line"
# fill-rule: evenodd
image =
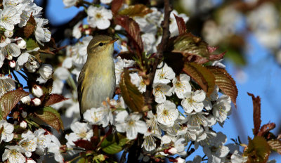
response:
M180 74L179 80L173 79L173 93L176 93L178 98L183 99L185 93L191 92L191 85L189 83L190 77L187 74Z

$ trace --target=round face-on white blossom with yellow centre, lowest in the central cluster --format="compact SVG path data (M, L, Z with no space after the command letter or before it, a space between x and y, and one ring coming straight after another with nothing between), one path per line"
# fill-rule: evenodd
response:
M173 126L178 119L178 109L176 105L169 100L157 105L157 121L165 126Z

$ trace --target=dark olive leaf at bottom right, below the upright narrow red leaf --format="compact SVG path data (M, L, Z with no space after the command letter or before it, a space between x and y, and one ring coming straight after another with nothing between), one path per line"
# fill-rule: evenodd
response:
M248 148L244 155L248 156L248 162L266 162L270 154L270 146L265 138L255 136L249 139Z

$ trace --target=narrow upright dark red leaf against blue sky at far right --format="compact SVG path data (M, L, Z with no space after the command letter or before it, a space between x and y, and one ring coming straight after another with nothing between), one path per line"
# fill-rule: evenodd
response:
M254 136L259 133L259 128L261 127L261 98L259 96L255 97L254 94L249 93L251 100L253 100L253 119L254 119Z

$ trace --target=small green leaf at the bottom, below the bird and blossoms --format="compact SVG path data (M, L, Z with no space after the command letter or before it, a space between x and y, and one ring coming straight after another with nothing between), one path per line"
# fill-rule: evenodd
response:
M123 146L126 145L126 143L129 143L129 139L127 139L126 136L123 136L120 133L117 133L117 136L118 136L118 140L119 140L118 143L113 134L110 135L109 137L105 138L103 143L101 143L101 145L100 145L103 152L113 155L117 152L122 151Z

